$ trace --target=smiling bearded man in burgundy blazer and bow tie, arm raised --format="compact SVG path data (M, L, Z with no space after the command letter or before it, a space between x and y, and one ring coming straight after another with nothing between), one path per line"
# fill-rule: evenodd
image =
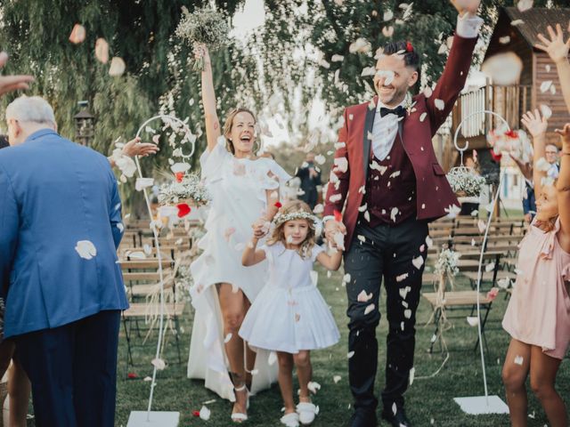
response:
M387 44L376 65L378 96L348 107L338 136L324 220L330 241L338 232L346 235L351 427L377 425L374 382L382 277L389 325L382 417L396 427L411 425L403 411L403 392L413 367L428 222L458 205L431 139L465 84L482 22L476 16L480 0L452 0L452 4L460 17L444 74L433 93L407 100L406 93L418 80L419 52L410 43ZM345 204L343 224L338 216Z

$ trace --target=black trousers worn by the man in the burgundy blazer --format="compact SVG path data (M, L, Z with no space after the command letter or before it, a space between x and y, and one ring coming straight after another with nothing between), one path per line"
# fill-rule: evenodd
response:
M376 326L380 321L379 294L384 277L389 332L382 402L386 411L392 411L394 404L403 407L403 392L413 367L416 309L424 264L417 268L412 260L421 256L425 261L427 257L428 223L411 218L393 227L379 225L372 229L364 222L356 226L354 240L345 254L345 271L350 274L346 284L346 314L350 318L348 350L354 351L348 359L349 383L355 410L375 411L378 406L374 396L378 367ZM362 291L372 294L369 301L358 301Z

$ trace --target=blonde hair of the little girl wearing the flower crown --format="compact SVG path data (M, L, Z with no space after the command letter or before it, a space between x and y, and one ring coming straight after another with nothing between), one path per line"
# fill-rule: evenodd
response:
M296 214L298 214L298 216ZM309 205L307 205L305 202L302 202L300 200L291 200L287 202L285 205L282 205L281 209L279 210L277 215L275 215L275 218L273 220L276 222L276 225L275 228L273 229L271 237L267 240L267 245L272 246L278 242L281 242L283 246L285 246L285 244L287 243L285 238L285 231L283 230L285 224L289 221L297 219L305 220L309 226L309 230L306 233L305 240L299 245L297 253L303 259L310 258L313 251L313 247L316 244L315 225L311 217L314 217L313 211L311 210Z

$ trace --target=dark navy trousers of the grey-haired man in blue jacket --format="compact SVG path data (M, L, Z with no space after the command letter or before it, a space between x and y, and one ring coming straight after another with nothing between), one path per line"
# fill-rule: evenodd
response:
M120 311L14 337L39 427L115 425Z

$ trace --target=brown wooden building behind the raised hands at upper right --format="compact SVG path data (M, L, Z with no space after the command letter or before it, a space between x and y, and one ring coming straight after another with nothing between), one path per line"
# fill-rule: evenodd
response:
M553 131L570 122L570 114L562 97L555 64L546 52L536 49L534 44L539 43L539 33L548 34L546 28L549 25L554 27L557 23L564 28L567 39L569 21L569 8L533 8L526 12L519 12L517 7L501 8L485 52L485 60L497 53L516 53L523 63L519 82L517 85L505 86L489 81L484 87L462 93L452 111L452 135L461 120L477 110L493 110L506 118L511 128L518 129L521 127L520 119L526 111L546 105L552 110L548 139L559 146L558 135ZM541 85L547 81L552 81L556 93L551 93L550 89L542 93ZM461 145L469 141L469 149L488 148L485 135L497 124L496 119L490 115L471 117L461 126L458 141ZM453 150L452 144L447 147ZM453 153L444 153L444 165L449 167L455 161Z

